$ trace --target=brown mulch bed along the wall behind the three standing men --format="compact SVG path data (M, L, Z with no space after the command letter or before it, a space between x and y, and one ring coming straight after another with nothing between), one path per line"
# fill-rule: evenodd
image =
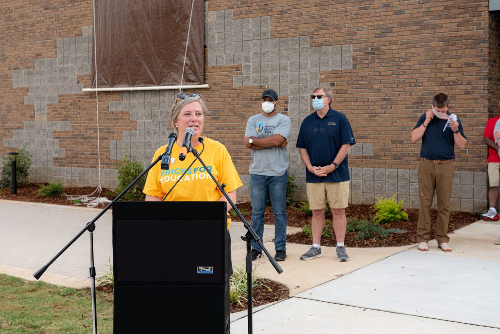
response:
M305 224L310 224L311 216L302 212L298 208L298 203L287 205L286 214L288 218L288 226L303 227ZM251 220L251 205L249 202L239 203L236 205L239 211L243 214L246 220ZM408 220L396 220L383 225L385 228L398 228L405 230L405 233L389 233L385 238L371 239L356 239L356 232L347 232L345 234L345 245L348 247L393 247L416 243L416 222L418 220L418 209L405 209L408 213ZM328 212L329 213L329 212ZM430 238L435 238L435 219L437 211L432 209L430 216L432 219L432 233ZM367 204L352 204L345 209L347 218L370 220L373 216L371 205ZM326 218L331 219L331 214L327 214ZM233 220L239 220L239 217L232 217ZM481 219L480 214L471 212L450 212L448 232L466 226L472 222ZM274 216L270 207L267 207L264 213L264 221L266 224L274 224ZM335 246L336 239L333 232L333 226L329 227L332 237L322 238L321 245ZM304 232L299 232L293 235L286 236L288 243L311 244L312 238L308 238Z

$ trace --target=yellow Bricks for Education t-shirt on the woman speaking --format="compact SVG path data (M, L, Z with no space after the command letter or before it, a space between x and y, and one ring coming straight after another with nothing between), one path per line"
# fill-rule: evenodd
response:
M230 192L243 185L225 146L207 137L204 138L204 143L205 150L200 154L200 157L219 184L225 183L224 190ZM198 152L201 152L203 146L199 144L194 148ZM154 161L165 149L166 145L159 147L151 161ZM161 169L160 163L156 163L147 174L142 192L146 195L156 197L163 197L168 192L175 181L195 159L192 153L187 153L184 161L180 161L178 158L179 152L180 147L175 142L172 147L168 169ZM219 191L217 185L213 182L210 175L208 175L201 162L196 160L165 200L217 201L221 196L222 192ZM230 219L227 219L227 228L229 228L229 222Z

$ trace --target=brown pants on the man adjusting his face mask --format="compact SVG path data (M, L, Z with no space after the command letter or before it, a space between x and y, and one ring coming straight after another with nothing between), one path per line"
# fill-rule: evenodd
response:
M416 241L427 242L430 238L430 206L437 197L436 240L437 244L448 242L449 199L453 185L453 162L434 163L422 160L418 167L418 194L420 210L416 230Z

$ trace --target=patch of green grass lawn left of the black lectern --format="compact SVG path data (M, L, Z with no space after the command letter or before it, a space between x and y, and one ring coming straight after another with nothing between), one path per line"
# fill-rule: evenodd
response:
M112 294L97 291L97 329L112 333ZM30 282L0 274L1 333L91 333L90 289Z

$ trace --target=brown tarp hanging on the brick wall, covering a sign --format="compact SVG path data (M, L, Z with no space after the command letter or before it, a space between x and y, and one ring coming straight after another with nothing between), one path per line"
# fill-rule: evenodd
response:
M194 0L186 85L203 84L203 8ZM96 0L97 88L180 84L190 14L189 0Z

